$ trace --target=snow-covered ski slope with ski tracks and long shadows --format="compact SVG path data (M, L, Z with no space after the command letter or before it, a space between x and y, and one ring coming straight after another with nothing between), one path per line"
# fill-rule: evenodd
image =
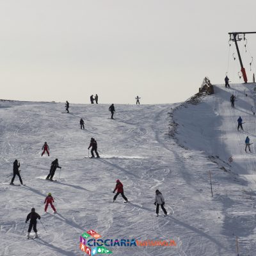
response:
M196 105L116 105L115 120L106 104L70 104L65 115L64 105L54 102L0 102L0 255L84 255L79 236L90 229L103 240L176 243L109 246L113 255L236 255L236 236L241 255L255 255L255 156L253 147L252 154L244 152L247 134L252 142L256 135L253 86L232 87L216 86L216 94ZM237 132L239 115L246 122L243 132ZM84 158L92 137L100 159ZM49 157L41 157L45 141ZM57 181L44 180L56 158L62 167ZM12 179L6 177L15 159L26 186L2 184ZM120 195L113 203L116 179L129 204ZM156 189L167 217L160 209L156 218ZM44 213L48 193L57 214L50 206ZM38 221L39 238L28 240L28 224L22 230L31 207L47 232Z

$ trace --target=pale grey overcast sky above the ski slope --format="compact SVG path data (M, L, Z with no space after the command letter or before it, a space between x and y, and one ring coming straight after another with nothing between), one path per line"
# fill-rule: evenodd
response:
M239 82L227 33L256 31L255 12L255 0L0 0L0 99L180 102L205 76L223 83L228 66Z

